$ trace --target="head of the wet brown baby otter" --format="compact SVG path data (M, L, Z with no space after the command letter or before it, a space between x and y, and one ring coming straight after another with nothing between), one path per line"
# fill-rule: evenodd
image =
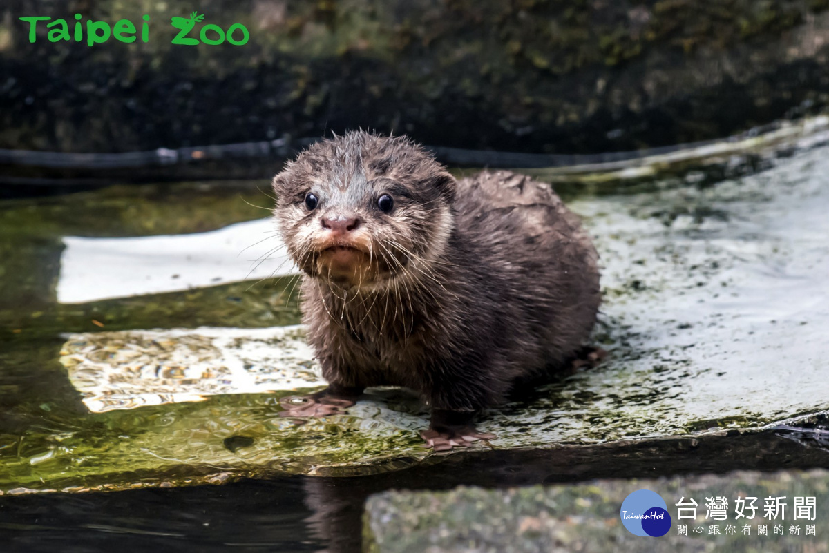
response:
M349 132L317 142L273 185L293 261L341 289L428 274L453 230L457 182L405 137Z

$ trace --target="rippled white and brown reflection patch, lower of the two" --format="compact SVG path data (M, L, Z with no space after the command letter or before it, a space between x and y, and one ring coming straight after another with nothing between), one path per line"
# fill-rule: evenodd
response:
M61 363L90 411L324 386L300 326L71 334Z

